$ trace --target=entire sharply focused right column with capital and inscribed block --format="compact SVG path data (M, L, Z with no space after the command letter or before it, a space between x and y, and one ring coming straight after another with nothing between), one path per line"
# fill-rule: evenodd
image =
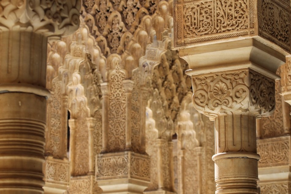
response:
M193 105L215 121L217 194L258 193L256 119L274 112L290 9L283 0L174 1L174 44L190 66Z

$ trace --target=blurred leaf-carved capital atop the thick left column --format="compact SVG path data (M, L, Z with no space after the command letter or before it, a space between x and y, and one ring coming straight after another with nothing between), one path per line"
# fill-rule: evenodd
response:
M69 35L79 27L80 8L81 1L1 1L0 31Z

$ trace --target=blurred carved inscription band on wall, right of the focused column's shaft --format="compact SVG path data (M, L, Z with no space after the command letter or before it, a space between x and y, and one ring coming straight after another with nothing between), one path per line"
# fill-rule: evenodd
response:
M258 139L259 167L290 164L290 137Z

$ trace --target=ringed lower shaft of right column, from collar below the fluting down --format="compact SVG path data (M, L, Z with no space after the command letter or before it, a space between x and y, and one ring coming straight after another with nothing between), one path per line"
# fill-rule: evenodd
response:
M229 152L216 154L215 162L216 194L258 194L259 154Z

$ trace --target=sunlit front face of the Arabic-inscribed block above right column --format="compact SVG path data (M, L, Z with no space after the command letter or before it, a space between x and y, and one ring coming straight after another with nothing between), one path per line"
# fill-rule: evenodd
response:
M177 4L175 4L177 2ZM255 33L254 0L177 0L177 45Z

